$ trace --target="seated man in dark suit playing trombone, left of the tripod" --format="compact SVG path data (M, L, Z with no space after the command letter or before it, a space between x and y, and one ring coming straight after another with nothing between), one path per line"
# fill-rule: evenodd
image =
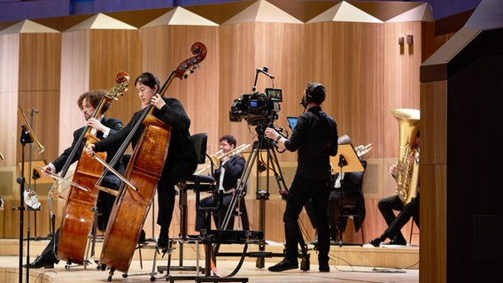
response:
M236 193L237 180L241 178L244 171L244 164L246 163L244 157L241 155L230 156L229 152L236 149L236 138L234 136L226 134L220 138L219 151L220 164L221 166L215 170L214 179L216 180L216 187L219 191L223 192L223 201L221 203L220 210L213 213L213 220L218 229L222 229L224 218L226 217L229 204L231 203L233 195ZM244 187L245 188L245 187ZM244 191L244 193L246 193ZM244 195L243 195L244 196ZM205 197L200 200L199 205L202 207L216 207L219 197L217 194ZM241 205L241 211L243 213L243 229L249 230L250 225L248 223L248 214L246 213L246 207ZM207 223L208 216L205 210L196 211L196 231L210 227L210 223ZM232 229L234 227L234 218L228 218L228 226L225 229Z

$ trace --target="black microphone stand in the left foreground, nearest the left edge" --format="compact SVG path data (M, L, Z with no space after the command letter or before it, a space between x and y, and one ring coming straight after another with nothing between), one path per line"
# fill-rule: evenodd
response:
M24 193L25 193L25 145L32 143L33 140L27 131L26 126L21 129L21 175L16 180L20 185L19 207L12 207L12 210L19 210L19 283L23 282L23 226L24 226ZM29 281L29 242L30 242L30 227L27 227L27 283Z

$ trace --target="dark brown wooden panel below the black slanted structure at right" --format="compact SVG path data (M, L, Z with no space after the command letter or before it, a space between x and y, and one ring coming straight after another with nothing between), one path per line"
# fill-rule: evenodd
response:
M447 262L447 81L422 83L420 170L422 282L445 282Z

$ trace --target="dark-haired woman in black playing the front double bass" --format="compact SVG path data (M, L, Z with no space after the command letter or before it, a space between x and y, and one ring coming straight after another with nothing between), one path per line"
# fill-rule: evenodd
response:
M169 226L173 218L176 195L174 185L180 180L187 180L196 171L197 154L190 139L189 116L187 116L182 103L178 99L159 96L160 83L157 76L148 72L141 73L135 80L135 88L136 94L142 101L143 109L136 111L128 125L117 134L106 140L90 144L85 151L89 156L92 156L94 150L99 152L118 148L127 140L128 134L135 129L135 126L140 125L133 138L126 141L131 142L135 149L145 129L141 118L144 111L149 111L150 107L147 107L149 105L154 107L153 116L171 126L167 157L157 184L159 203L157 223L160 226L157 245L160 249L166 250L169 243Z

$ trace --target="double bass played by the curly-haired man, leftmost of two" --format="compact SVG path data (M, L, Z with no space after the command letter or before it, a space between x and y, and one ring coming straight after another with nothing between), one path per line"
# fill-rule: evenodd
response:
M116 96L123 96L124 92L128 89L128 73L118 73L115 80L119 85L112 88L107 95L102 97L92 115L93 118L98 119L101 116L105 103L117 99ZM84 140L86 144L98 141L98 138L91 134L91 130L92 127L86 126L84 131L82 131L79 141L75 144L70 157L66 160L66 164L62 170L63 177L72 163L76 151L80 148L79 145ZM106 153L102 153L102 155L106 158ZM71 182L68 181L71 187L66 197L66 206L59 228L57 255L59 260L66 260L74 264L85 264L84 259L95 213L92 208L96 206L97 194L99 192L94 185L103 172L103 165L96 164L85 152L81 152L73 180ZM50 176L58 180L65 180L54 174L50 174Z

